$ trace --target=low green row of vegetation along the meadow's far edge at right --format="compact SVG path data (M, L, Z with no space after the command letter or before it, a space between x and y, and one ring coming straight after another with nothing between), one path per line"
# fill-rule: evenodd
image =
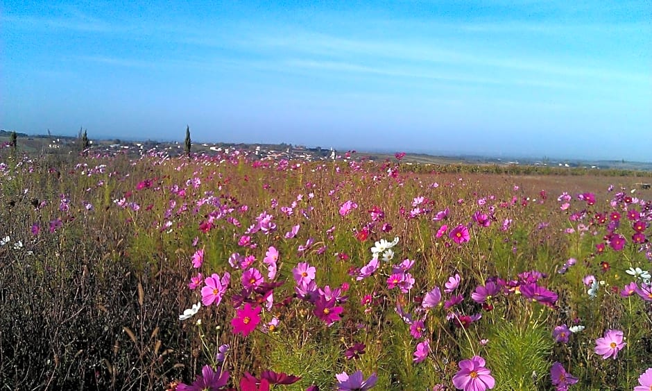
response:
M469 164L413 164L401 165L404 172L426 174L430 172L459 174L508 174L508 175L600 175L638 176L652 178L652 172L633 169L595 169L585 167L549 167L532 165L469 165Z

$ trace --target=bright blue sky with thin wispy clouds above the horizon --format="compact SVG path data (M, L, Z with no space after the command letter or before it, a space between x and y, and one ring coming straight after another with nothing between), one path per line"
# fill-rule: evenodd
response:
M4 129L652 160L649 0L24 3Z

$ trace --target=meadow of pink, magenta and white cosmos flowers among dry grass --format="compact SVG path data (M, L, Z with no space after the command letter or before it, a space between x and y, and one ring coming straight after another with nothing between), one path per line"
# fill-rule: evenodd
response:
M0 153L0 389L652 390L640 178Z

